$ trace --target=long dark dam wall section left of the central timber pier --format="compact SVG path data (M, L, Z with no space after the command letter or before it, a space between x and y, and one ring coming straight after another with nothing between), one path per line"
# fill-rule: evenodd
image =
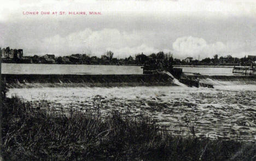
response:
M3 74L9 88L26 87L112 87L171 86L172 78L165 74L147 75L76 75L76 74Z

